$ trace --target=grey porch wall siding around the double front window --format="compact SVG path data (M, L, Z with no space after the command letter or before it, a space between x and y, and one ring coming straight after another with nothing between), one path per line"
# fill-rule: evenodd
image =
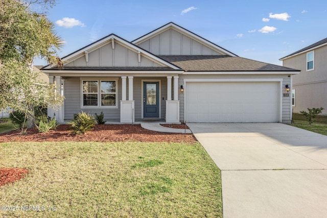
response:
M81 78L82 79L82 78ZM64 119L73 119L75 113L81 111L90 114L100 114L101 111L104 114L104 120L110 122L110 120L117 121L120 120L120 101L118 101L118 108L81 108L81 79L78 77L69 77L65 79L65 115ZM89 79L89 78L88 78ZM94 78L98 80L97 77ZM101 78L101 80L111 78ZM118 80L118 98L121 100L122 95L122 82L121 79Z

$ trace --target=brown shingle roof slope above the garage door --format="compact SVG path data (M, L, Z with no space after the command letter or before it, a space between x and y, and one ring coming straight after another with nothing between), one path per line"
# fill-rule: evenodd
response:
M223 55L159 56L185 71L299 71L284 66Z

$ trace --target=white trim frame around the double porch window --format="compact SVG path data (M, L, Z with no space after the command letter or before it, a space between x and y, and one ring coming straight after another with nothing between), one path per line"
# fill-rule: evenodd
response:
M83 81L97 81L98 82L98 106L83 106ZM101 81L115 81L116 83L116 99L115 106L101 106ZM94 77L81 77L80 78L80 98L81 98L81 109L117 109L119 108L119 80L118 78L94 78Z

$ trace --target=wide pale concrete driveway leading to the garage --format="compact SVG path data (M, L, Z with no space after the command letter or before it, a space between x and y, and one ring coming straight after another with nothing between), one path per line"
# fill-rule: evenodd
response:
M188 124L221 169L224 217L326 217L327 136L285 124Z

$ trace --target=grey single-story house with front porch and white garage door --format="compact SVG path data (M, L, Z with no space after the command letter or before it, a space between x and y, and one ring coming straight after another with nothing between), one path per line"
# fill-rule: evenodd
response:
M65 96L59 122L83 110L120 123L290 123L285 86L299 72L238 57L173 22L131 42L110 34L62 60L63 69L42 68Z

